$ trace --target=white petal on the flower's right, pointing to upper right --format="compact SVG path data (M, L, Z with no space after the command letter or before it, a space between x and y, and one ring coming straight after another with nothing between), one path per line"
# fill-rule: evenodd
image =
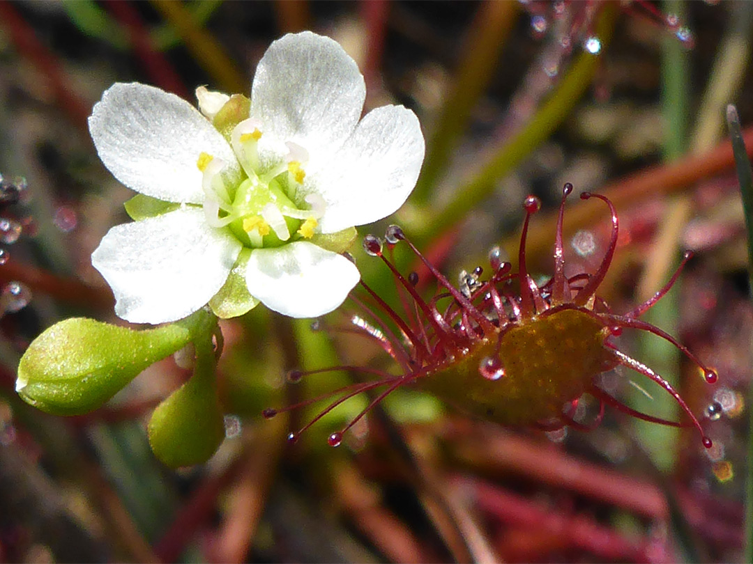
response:
M372 223L405 202L421 171L424 138L416 114L402 106L370 111L328 162L312 162L303 192L327 208L322 233Z

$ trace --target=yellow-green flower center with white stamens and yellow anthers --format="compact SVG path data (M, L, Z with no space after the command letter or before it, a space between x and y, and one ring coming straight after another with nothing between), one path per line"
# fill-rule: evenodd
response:
M207 153L199 156L207 223L228 226L245 247L277 247L312 238L325 202L313 193L299 197L308 154L292 143L285 148L260 147L258 126L249 119L233 129L231 144L242 168L240 180L229 178L227 163L221 159Z

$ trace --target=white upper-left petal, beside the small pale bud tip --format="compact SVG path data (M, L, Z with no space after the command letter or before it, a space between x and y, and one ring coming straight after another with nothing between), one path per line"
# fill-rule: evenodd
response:
M123 184L167 202L203 201L200 153L240 174L236 157L212 123L188 102L154 86L115 83L89 117L99 158Z

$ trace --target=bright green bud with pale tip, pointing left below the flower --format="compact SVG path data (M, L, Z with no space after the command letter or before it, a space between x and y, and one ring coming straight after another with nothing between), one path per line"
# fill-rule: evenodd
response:
M189 341L190 326L181 322L136 331L83 317L61 321L23 353L16 391L41 411L84 414Z

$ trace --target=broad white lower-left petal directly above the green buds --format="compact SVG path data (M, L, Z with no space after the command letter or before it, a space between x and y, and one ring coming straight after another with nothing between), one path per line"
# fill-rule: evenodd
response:
M92 264L110 284L119 317L164 323L209 302L240 250L230 232L206 224L200 208L187 208L114 226Z

